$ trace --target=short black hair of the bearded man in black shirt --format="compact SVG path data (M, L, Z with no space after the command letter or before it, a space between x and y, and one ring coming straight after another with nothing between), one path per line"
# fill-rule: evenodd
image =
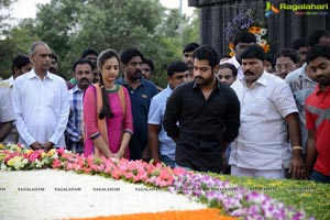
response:
M201 45L193 54L194 58L199 61L207 59L209 65L215 68L219 64L219 53L218 51L210 45Z

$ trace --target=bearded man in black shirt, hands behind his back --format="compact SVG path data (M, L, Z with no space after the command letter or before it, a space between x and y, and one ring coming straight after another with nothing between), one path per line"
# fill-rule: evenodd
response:
M217 80L219 54L213 47L198 47L194 58L195 80L178 86L168 98L164 128L176 141L177 166L220 173L226 143L238 135L240 102Z

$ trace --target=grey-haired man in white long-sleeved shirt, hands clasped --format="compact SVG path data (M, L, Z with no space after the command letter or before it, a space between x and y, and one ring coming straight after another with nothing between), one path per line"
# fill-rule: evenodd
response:
M12 91L19 142L33 150L65 147L69 114L66 82L48 72L52 52L47 44L34 43L29 56L33 69L14 80Z

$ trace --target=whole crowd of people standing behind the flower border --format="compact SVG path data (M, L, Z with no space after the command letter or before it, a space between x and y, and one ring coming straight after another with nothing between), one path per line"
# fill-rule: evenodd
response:
M48 70L51 48L37 42L29 53L33 68L13 75L11 103L1 98L0 138L14 121L19 143L33 150L67 145L85 156L152 160L199 172L223 173L229 163L235 176L330 183L330 43L319 44L308 48L300 68L316 89L301 98L294 90L298 79L289 79L294 72L284 80L265 70L265 53L249 32L237 35L227 61L212 46L187 44L183 61L168 64L162 91L147 79L154 66L138 48L81 56L68 90ZM276 56L277 69L289 67L286 54Z

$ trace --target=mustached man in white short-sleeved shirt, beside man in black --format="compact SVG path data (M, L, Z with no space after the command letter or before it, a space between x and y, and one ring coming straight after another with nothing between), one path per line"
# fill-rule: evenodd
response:
M264 70L262 47L250 46L241 57L244 78L232 85L241 102L241 127L232 142L231 174L284 178L288 166L293 178L302 178L298 110L289 86Z

